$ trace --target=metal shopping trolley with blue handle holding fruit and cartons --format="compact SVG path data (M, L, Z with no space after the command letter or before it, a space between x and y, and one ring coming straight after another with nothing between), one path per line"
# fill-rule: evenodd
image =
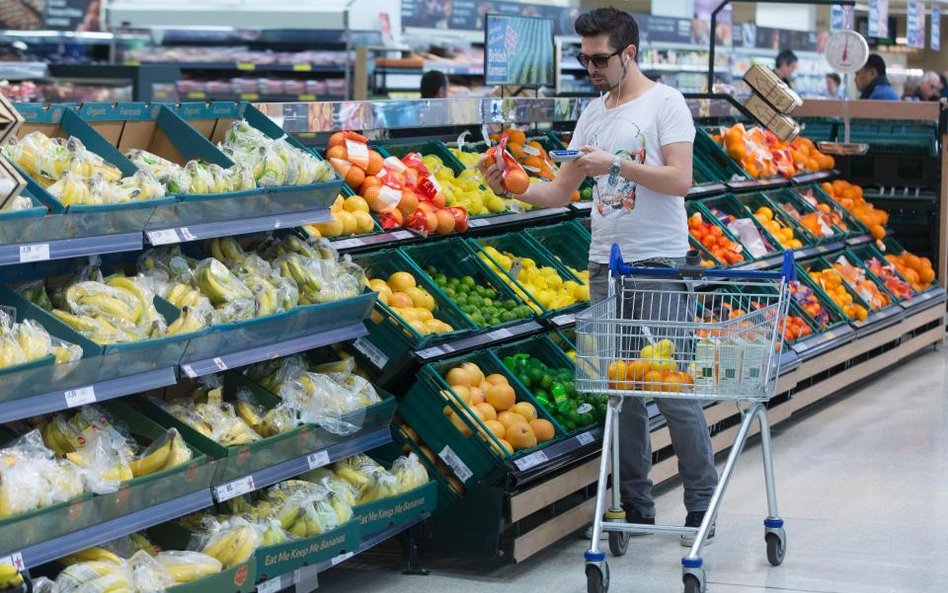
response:
M689 259L697 264L697 258ZM585 555L589 593L609 588L609 565L599 549L603 531L614 556L625 554L632 533L694 535L691 550L681 560L682 581L685 593L705 591L701 548L755 419L760 423L767 488L767 559L774 566L783 562L787 539L777 513L765 404L773 397L780 374L781 325L795 269L789 251L780 272L709 270L698 265L635 268L623 263L619 247L613 245L609 297L576 315L576 388L609 397L592 544ZM680 289L662 290L656 282L669 279ZM618 434L619 413L627 397L733 401L740 411L737 437L700 527L625 522ZM612 500L606 509L610 464Z

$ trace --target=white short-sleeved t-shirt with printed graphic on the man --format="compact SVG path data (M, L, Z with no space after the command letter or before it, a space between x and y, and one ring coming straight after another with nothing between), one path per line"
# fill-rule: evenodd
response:
M656 84L640 97L607 109L602 98L579 116L570 148L601 148L646 165L665 164L662 146L694 142L695 125L685 98L676 89ZM627 262L688 253L685 199L654 192L622 177L596 178L593 190L592 245L589 261L608 263L613 243Z

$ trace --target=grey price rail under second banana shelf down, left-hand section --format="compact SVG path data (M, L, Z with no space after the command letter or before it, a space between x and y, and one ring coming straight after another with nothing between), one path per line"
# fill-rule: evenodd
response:
M89 360L92 360L94 364L94 358ZM74 364L79 366L83 362L80 361ZM85 362L88 364L88 361ZM55 367L46 367L43 370L55 372ZM12 422L40 414L49 414L80 405L80 403L106 401L177 383L174 367L155 369L92 384L74 384L75 382L69 381L69 378L69 375L66 375L60 382L61 389L39 395L0 401L0 422ZM8 389L3 391L10 393Z

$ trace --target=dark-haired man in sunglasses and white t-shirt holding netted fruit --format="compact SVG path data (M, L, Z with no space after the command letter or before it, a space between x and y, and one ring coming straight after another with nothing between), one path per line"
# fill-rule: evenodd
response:
M593 302L608 294L609 252L622 248L625 261L640 267L674 267L689 250L684 197L692 183L695 127L684 97L676 89L654 83L639 70L638 25L615 8L587 12L576 21L582 37L579 62L603 93L576 123L570 148L582 157L563 163L550 183L531 184L517 198L541 207L564 206L587 176L593 192L592 245L589 249L590 293ZM480 167L491 188L503 194L497 166ZM509 194L508 194L509 195ZM636 282L636 290L686 293L681 282ZM624 308L639 319L689 321L688 298L629 302ZM671 304L674 301L674 304ZM679 351L690 348L686 336L672 336ZM637 351L637 350L636 350ZM685 525L704 519L717 472L708 427L695 400L658 399L678 456L685 490ZM620 415L621 497L631 523L654 524L651 442L644 400L626 398ZM712 518L713 519L713 518ZM708 541L713 537L710 530ZM694 536L682 536L690 546Z

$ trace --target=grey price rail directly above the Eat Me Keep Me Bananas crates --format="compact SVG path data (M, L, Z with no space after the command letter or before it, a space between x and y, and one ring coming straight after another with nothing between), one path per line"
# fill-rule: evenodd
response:
M309 470L329 465L340 459L351 457L364 453L376 447L381 447L392 440L392 431L388 424L372 432L360 435L353 439L331 445L320 451L313 451L306 455L301 455L295 459L290 459L271 465L238 478L227 480L221 484L215 484L211 487L214 493L214 500L222 502L246 494L254 490L260 490L272 486L277 482L289 480Z

